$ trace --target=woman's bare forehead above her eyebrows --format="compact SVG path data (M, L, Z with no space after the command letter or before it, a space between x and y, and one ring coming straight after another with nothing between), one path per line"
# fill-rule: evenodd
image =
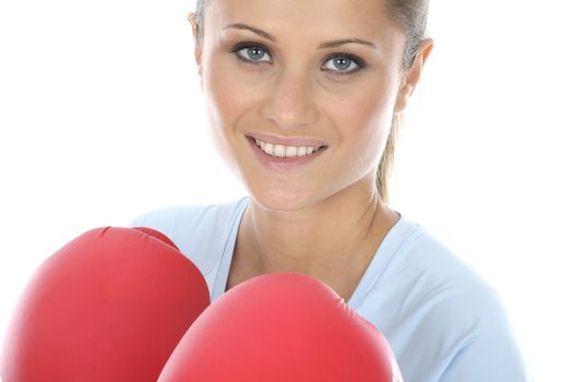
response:
M246 23L282 38L357 37L389 43L402 39L387 0L211 0L205 32Z

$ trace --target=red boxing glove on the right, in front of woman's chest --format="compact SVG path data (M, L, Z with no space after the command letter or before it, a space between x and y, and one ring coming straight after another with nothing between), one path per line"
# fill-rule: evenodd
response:
M188 330L159 382L397 382L382 333L326 284L259 276L213 302Z

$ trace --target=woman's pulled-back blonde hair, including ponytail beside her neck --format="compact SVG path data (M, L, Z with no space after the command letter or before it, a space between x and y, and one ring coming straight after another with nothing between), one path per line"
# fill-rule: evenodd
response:
M205 4L212 0L196 0L195 23L198 24L198 41L203 40L203 13ZM428 23L429 0L383 0L394 17L394 21L402 27L406 36L406 46L403 57L403 69L409 69L416 59L418 50L425 40ZM377 191L381 200L385 203L390 200L390 177L394 164L394 153L396 150L397 133L404 123L402 114L394 115L386 141L386 146L380 158L377 170Z

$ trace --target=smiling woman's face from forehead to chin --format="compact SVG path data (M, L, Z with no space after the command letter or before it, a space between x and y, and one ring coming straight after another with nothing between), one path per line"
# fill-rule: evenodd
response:
M298 211L373 187L404 44L381 0L207 3L198 63L211 126L258 204Z

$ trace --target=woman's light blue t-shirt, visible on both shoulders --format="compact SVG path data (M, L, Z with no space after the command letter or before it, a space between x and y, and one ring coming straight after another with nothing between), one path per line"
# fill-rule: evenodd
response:
M142 215L225 293L249 199ZM405 382L530 381L496 291L418 224L401 216L348 300L387 338Z

